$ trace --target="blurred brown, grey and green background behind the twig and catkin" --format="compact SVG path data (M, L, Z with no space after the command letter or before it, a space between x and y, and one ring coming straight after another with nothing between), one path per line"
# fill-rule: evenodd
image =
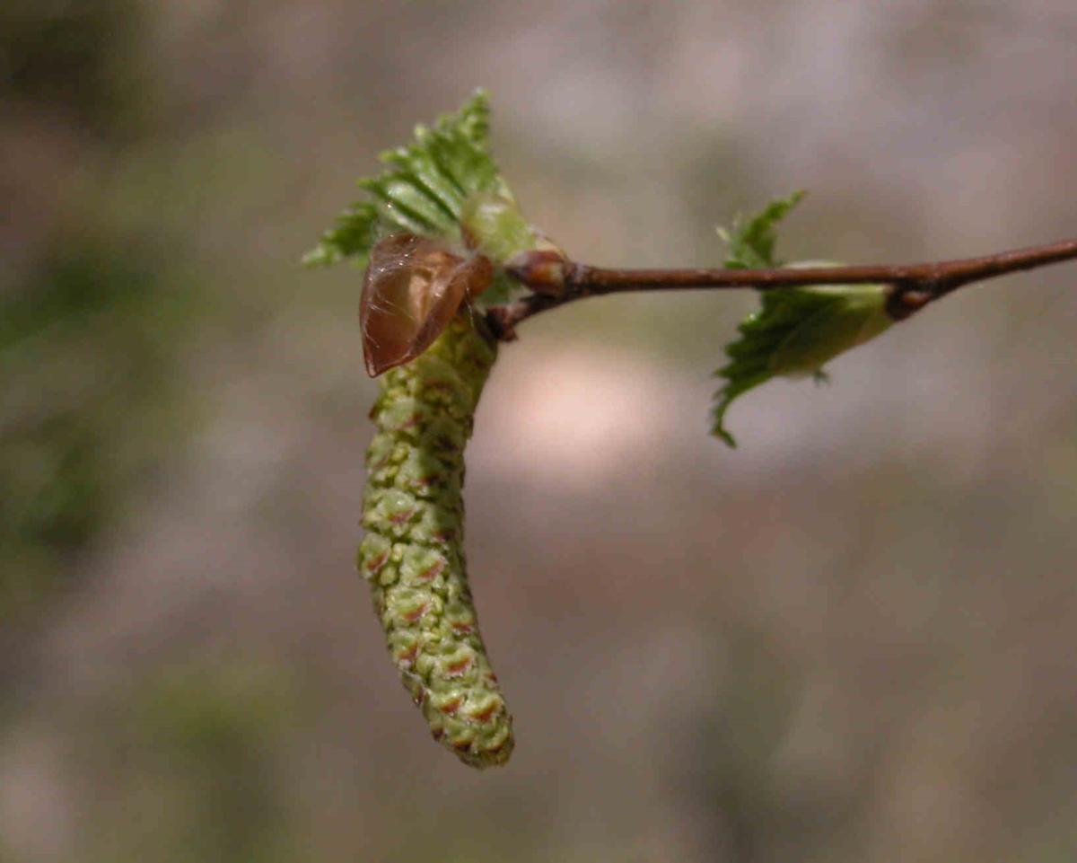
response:
M468 451L506 769L429 739L360 538L360 276L297 261L492 92L579 260L1073 236L1066 0L0 10L0 861L1069 861L1077 291L962 291L707 434L747 294L521 328Z

